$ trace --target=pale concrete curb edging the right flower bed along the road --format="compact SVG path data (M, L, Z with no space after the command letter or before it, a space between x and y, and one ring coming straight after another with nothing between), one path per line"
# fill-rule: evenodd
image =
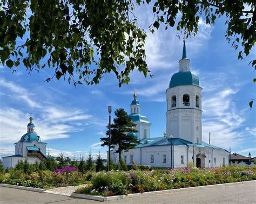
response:
M164 190L164 191L151 191L151 192L145 192L145 193L133 193L133 194L128 194L128 195L116 195L116 196L109 196L109 197L72 193L70 195L70 197L90 199L90 200L96 200L96 201L104 202L104 201L119 200L119 199L125 199L125 198L137 198L137 197L147 196L147 195L174 193L174 192L178 192L178 191L193 191L193 190L201 189L201 188L214 188L214 187L217 187L217 186L232 186L232 185L238 185L238 184L245 184L245 183L248 183L248 182L256 182L256 180L233 182L233 183L226 183L226 184L216 184L216 185L209 185L209 186L177 188L177 189L169 189L169 190ZM56 194L58 194L58 193L56 193Z

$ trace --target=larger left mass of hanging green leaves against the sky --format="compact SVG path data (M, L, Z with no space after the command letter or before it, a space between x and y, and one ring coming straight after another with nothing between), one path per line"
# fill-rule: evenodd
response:
M130 15L133 7L130 0L2 1L2 64L23 64L29 72L47 66L57 80L69 77L74 85L97 84L105 73L114 73L121 86L135 68L146 76L146 33ZM24 43L17 45L18 39Z

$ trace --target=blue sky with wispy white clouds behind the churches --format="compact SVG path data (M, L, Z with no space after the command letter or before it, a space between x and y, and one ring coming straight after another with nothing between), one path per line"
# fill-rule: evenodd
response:
M147 30L154 22L149 6L136 10L139 25ZM217 19L214 26L200 19L196 37L187 39L187 58L191 70L198 74L203 88L203 140L248 156L256 156L256 104L252 110L248 102L255 96L255 73L248 63L255 59L255 47L244 60L237 60L235 51L225 39L225 18ZM26 72L21 66L11 73L0 65L0 157L14 154L14 143L26 132L30 112L33 113L36 132L53 156L62 151L65 156L85 158L91 151L106 156L107 147L100 146L108 123L107 105L112 110L129 105L136 87L141 113L151 123L151 137L163 136L166 126L165 91L172 74L178 72L183 42L177 31L160 26L146 39L147 64L153 78L131 73L129 85L118 87L114 75L107 74L99 85L69 85L60 79L44 82L52 76L49 68L39 73ZM241 47L240 47L241 48ZM112 113L112 117L114 114Z

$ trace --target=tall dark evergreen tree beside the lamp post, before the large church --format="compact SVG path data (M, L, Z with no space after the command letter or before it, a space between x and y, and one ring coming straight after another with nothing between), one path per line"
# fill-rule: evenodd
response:
M134 127L135 123L132 122L132 119L127 115L127 112L123 108L117 109L114 111L116 118L113 119L114 124L111 124L111 148L114 146L117 147L119 153L119 160L122 160L121 153L125 150L133 149L134 146L139 144L139 141L127 135L129 132L138 132ZM106 135L109 135L109 125L107 125ZM102 146L109 145L109 137L100 138L100 141L103 142Z

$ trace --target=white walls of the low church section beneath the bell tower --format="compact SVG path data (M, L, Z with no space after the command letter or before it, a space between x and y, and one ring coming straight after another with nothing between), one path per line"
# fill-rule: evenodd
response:
M194 153L193 153L194 150ZM225 157L225 165L228 165L228 156L229 153L223 149L214 149L213 150L213 158L212 158L212 148L206 147L193 147L190 146L187 149L187 146L174 146L174 154L173 154L173 163L174 167L186 167L187 162L194 162L196 164L196 156L201 153L206 156L206 158L202 157L201 160L204 159L204 167L209 168L212 167L213 158L217 158L217 163L213 167L222 166L223 157ZM166 155L166 163L163 163L163 155ZM127 152L122 152L122 158L126 156L127 162L126 164L131 165L130 156L133 156L133 161L135 164L143 164L150 165L156 167L171 167L171 146L150 146L150 147L142 147L135 148L129 150ZM154 157L154 163L151 163L151 155ZM181 164L181 156L183 156L184 163ZM194 157L194 159L193 159ZM113 157L111 157L113 158ZM114 163L118 163L118 153L114 153L113 159ZM203 166L202 166L203 167Z

